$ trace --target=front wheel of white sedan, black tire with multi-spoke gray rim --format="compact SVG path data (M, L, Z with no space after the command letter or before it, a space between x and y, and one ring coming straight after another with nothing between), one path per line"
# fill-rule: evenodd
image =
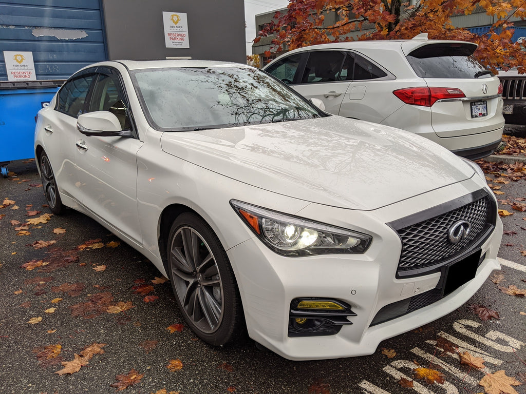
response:
M167 256L170 282L197 336L215 346L241 334L242 307L228 256L208 224L190 212L171 226Z

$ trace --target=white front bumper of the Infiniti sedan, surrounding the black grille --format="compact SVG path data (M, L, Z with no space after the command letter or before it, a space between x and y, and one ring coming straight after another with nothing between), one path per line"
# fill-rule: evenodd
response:
M460 307L494 269L500 269L497 252L502 223L499 219L493 233L481 245L484 259L474 279L431 305L371 326L381 308L432 291L441 276L440 272L434 272L397 279L401 243L397 233L385 223L416 213L418 207L429 208L430 201L436 202L435 205L450 201L452 195L464 194L469 188L475 189L472 181L467 188L462 184L450 185L371 212L310 204L298 213L335 225L352 223L353 229L371 234L373 243L363 255L284 257L270 251L256 238L228 250L250 337L292 360L362 356L375 352L380 341L432 322ZM337 299L350 305L356 313L348 317L352 325L343 325L335 335L289 336L291 301L304 297Z

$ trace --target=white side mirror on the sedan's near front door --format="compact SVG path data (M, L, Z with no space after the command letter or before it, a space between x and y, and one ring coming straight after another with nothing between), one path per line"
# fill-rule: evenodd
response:
M85 136L133 137L131 130L123 130L117 117L109 111L83 113L77 119L77 130Z

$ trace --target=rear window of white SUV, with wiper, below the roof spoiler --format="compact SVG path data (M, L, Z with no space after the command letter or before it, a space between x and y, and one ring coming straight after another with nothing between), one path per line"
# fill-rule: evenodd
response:
M407 60L414 72L422 78L490 78L473 52L474 44L429 44L413 50Z

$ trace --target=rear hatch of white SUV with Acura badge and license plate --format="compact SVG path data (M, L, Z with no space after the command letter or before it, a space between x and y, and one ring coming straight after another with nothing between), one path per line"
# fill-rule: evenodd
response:
M431 126L439 137L478 134L504 125L499 78L472 56L477 45L416 44L405 42L402 50L414 72L441 98L431 106Z

